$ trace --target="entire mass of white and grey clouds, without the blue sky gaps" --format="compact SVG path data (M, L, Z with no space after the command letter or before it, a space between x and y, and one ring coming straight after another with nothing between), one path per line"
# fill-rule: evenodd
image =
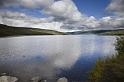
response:
M10 26L33 27L57 31L88 30L97 28L120 27L124 25L123 0L112 0L107 10L116 16L96 19L81 13L72 0L1 0L0 7L21 6L38 9L47 15L45 18L28 16L10 10L0 12L0 22Z

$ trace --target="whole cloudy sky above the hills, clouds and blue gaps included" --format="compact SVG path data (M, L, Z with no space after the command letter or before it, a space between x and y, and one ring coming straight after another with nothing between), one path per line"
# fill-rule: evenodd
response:
M124 26L124 0L1 0L0 23L57 31Z

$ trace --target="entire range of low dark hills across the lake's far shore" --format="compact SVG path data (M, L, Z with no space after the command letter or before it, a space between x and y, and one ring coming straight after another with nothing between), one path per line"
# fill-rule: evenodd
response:
M98 34L98 35L124 35L124 29L115 30L90 30L76 32L58 32L39 28L13 27L0 24L0 37L21 36L21 35L79 35L79 34Z

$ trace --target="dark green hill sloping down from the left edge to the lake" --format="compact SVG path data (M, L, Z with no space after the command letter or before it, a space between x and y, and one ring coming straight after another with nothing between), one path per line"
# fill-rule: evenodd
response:
M63 35L64 33L38 28L12 27L0 24L0 37L19 35Z

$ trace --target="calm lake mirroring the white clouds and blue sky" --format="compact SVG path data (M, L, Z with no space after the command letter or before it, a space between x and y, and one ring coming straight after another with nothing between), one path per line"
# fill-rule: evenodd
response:
M33 77L86 82L97 59L112 56L116 36L55 35L0 38L0 74L20 82Z

